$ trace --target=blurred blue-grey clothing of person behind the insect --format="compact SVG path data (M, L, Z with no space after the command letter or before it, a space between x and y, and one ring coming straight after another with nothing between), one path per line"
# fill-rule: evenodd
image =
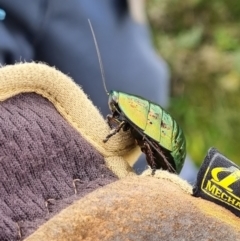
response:
M168 67L152 46L148 26L133 20L126 0L0 0L0 8L6 12L0 22L0 64L34 60L55 66L72 77L106 116L108 97L90 19L108 90L140 95L167 107ZM142 172L145 167L143 155L135 169ZM188 180L195 178L194 168L184 169Z

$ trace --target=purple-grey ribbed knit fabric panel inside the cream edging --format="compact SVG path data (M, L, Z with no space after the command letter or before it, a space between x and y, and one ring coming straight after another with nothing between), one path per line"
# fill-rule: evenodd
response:
M23 240L74 200L117 180L45 98L0 103L0 240Z

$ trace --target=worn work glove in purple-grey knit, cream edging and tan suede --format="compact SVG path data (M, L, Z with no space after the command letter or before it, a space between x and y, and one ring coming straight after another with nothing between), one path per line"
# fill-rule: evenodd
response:
M178 176L137 176L135 141L103 143L108 125L69 77L25 63L0 81L0 240L238 240L239 218Z

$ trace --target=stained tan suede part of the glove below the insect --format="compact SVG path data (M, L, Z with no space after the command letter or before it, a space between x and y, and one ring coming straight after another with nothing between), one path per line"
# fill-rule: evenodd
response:
M86 195L26 241L232 241L239 234L239 219L221 206L166 179L129 177Z

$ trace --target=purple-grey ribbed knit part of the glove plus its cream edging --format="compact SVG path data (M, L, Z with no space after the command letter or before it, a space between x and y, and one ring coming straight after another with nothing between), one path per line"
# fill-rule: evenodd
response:
M105 145L107 124L67 76L31 63L0 68L0 79L0 240L22 240L73 201L133 175L121 156L133 139L120 133Z

